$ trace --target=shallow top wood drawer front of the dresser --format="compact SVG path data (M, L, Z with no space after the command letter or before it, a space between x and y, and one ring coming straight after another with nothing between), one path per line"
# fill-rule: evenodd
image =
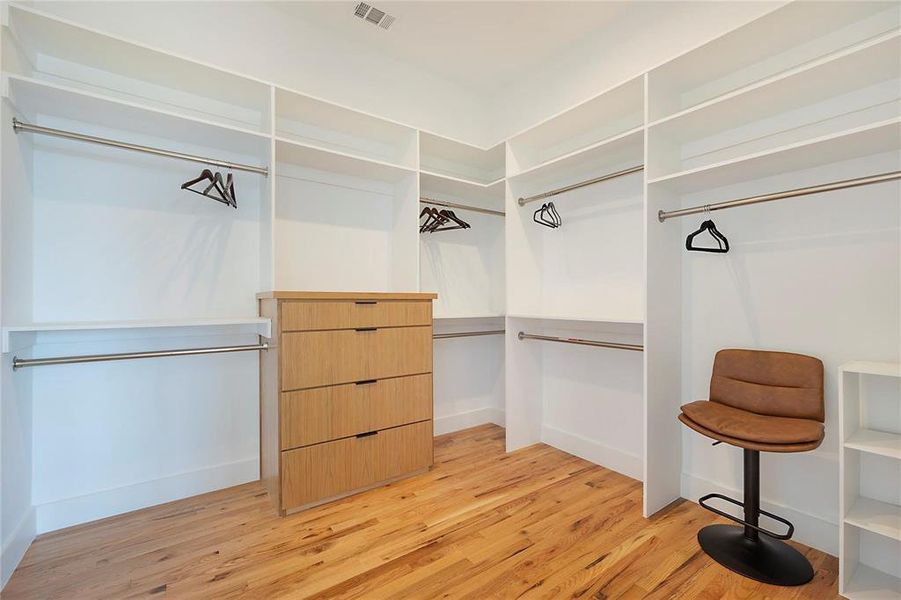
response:
M283 302L281 319L282 331L431 325L432 302L430 300Z

